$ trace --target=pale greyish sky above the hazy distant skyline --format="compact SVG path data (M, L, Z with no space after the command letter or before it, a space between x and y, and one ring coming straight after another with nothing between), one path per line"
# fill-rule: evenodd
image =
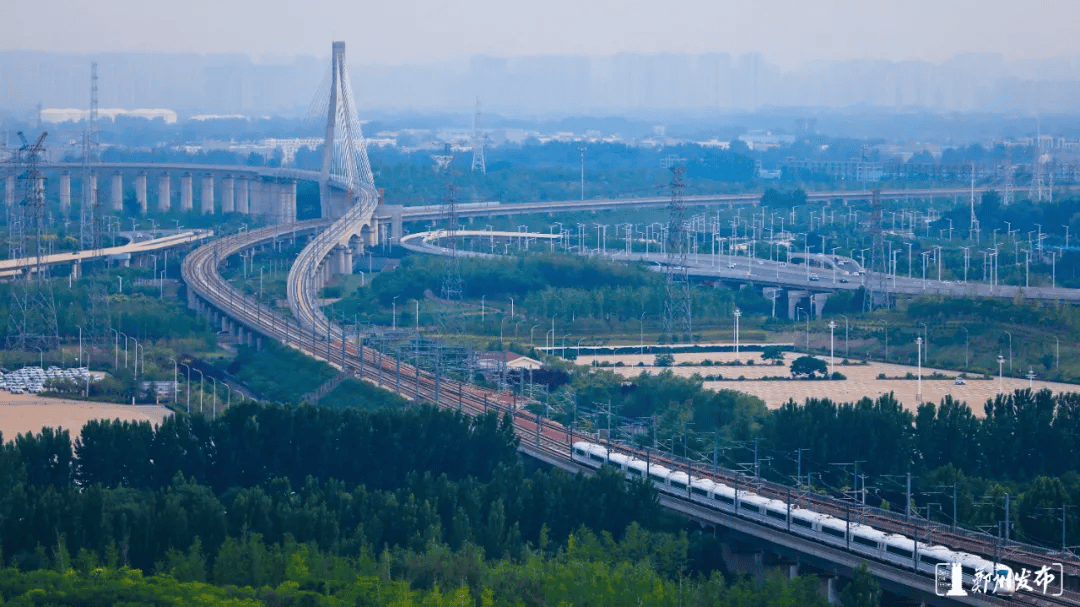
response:
M6 0L0 49L328 56L762 52L807 59L1080 54L1080 0ZM12 10L12 6L14 10Z

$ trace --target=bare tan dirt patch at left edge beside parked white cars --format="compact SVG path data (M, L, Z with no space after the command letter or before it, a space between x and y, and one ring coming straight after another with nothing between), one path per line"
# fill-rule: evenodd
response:
M75 439L92 419L122 419L160 424L172 412L157 405L119 405L48 399L36 394L0 392L0 431L11 442L16 434L41 432L43 427L64 428Z

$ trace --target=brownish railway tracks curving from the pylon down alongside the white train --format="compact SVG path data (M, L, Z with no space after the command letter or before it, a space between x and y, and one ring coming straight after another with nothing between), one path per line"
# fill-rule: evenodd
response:
M327 229L327 227L329 228ZM455 379L436 377L426 369L394 359L376 349L350 342L345 332L329 322L314 304L314 282L310 280L311 270L318 267L319 256L325 257L338 242L340 232L329 231L333 229L334 227L328 220L315 219L222 238L199 247L185 258L184 280L195 295L252 331L297 348L309 355L323 359L350 375L367 379L406 399L415 402L431 402L442 408L457 409L467 415L477 415L489 410L508 414L513 420L523 449L544 455L551 461L572 464L570 459L571 443L582 439L595 440L592 436L571 433L559 423L522 410L516 406L514 396L508 393L480 388ZM218 265L228 257L288 233L314 234L312 243L301 252L301 256L294 264L288 278L291 308L299 322L233 288L217 270ZM306 272L305 269L309 271ZM620 448L619 450L646 457L639 450L635 451L629 448ZM738 484L740 488L753 490L765 497L786 500L791 495L793 496L792 501L797 505L834 516L843 517L850 512L850 504L841 500L805 491L793 494L787 486L753 481L737 471L713 470L702 464L672 457L656 457L654 461L675 470L687 471L693 475L707 476L732 485ZM890 516L883 511L877 511L877 509L860 508L859 516L861 522L876 528L907 537L917 537L923 543L937 543L955 550L981 554L987 558L995 556L994 538L990 536L928 528L917 523ZM1020 570L1018 567L1034 570L1051 562L1047 553L1035 547L1017 543L1010 543L1005 550L999 551L998 557L1002 562L1014 565L1016 570ZM1071 561L1063 563L1063 565L1066 575L1080 576L1080 563ZM1070 591L1061 597L1018 592L1008 599L998 597L993 602L1036 607L1076 606L1080 605L1080 595Z

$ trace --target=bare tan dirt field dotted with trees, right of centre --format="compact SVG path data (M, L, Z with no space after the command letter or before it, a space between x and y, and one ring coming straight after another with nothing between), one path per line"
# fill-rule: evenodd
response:
M839 364L840 359L837 358L836 370L847 376L848 379L846 380L811 381L788 379L783 381L765 381L760 379L761 377L789 378L791 372L787 365L789 365L791 361L796 356L798 356L798 354L787 352L784 366L772 366L760 364L762 361L759 352L743 352L740 353L740 360L745 363L747 360L753 359L754 365L674 366L666 368L670 368L673 373L683 377L699 374L702 376L720 375L724 376L725 379L730 378L735 381L705 381L705 388L711 390L738 390L740 392L753 394L765 401L765 404L769 408L779 407L780 405L786 403L788 399L794 399L796 402L802 402L805 399L809 397L832 399L837 402L853 402L862 399L863 396L875 399L889 392L892 392L896 396L896 400L904 405L904 407L912 410L915 410L918 407L918 381L916 379L877 379L877 376L882 373L890 378L904 377L908 373L915 376L917 374L917 368L914 366L886 363L842 366ZM676 364L684 361L700 363L705 359L714 362L728 362L735 360L733 352L694 352L675 354L674 358ZM582 355L578 358L577 363L591 364L594 360L611 364L621 361L626 366L615 367L612 370L625 377L637 376L643 370L648 373L660 370L652 366L634 366L639 362L644 362L646 365L651 365L654 360L652 354L646 354L644 356L638 354L599 356ZM828 363L827 356L823 360ZM927 376L933 374L934 372L941 373L949 377L949 379L927 379ZM998 378L968 378L966 386L957 386L953 379L957 375L959 375L959 372L922 367L922 402L940 403L946 394L951 394L954 399L968 403L975 415L982 416L983 404L998 393ZM744 378L741 381L738 380L740 376ZM1005 377L1002 380L1001 387L1005 392L1012 392L1013 390L1027 388L1028 380ZM1038 379L1031 382L1031 387L1036 390L1047 388L1054 393L1080 392L1080 386L1077 385L1039 381Z

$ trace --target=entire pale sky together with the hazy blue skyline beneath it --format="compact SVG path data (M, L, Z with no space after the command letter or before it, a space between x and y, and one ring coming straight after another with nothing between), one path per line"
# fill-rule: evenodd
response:
M508 112L886 107L1068 112L1080 96L1072 1L14 2L0 110L102 102L302 113L328 41L366 108ZM26 23L48 15L48 27ZM43 78L41 78L43 77Z

